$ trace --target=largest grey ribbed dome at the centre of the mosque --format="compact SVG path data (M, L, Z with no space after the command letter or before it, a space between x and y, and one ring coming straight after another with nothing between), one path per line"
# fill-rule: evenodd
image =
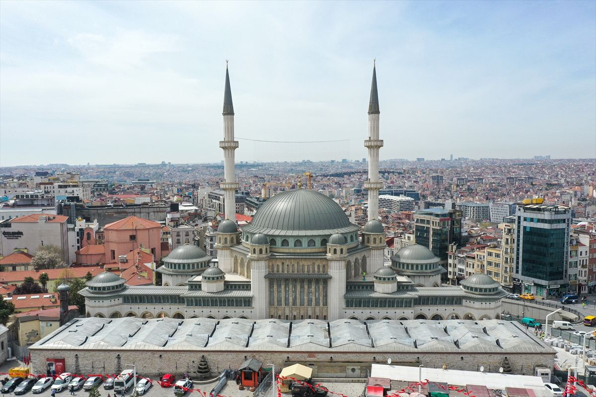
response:
M356 232L342 208L331 198L308 189L285 190L260 206L252 222L242 228L247 233L267 236L332 235Z

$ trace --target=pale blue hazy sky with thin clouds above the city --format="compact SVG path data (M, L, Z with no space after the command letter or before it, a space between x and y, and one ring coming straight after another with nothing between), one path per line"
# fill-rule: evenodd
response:
M363 158L374 58L381 160L596 157L596 1L3 0L0 166L219 162L226 60L237 137Z

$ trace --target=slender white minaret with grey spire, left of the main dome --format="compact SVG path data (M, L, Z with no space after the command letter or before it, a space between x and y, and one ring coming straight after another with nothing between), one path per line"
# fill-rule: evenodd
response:
M227 219L236 221L236 189L240 185L236 182L234 173L234 151L238 148L238 141L234 140L234 105L232 104L232 89L229 87L228 61L225 67L224 92L224 140L219 141L219 147L224 149L225 182L219 187L225 191L224 212Z

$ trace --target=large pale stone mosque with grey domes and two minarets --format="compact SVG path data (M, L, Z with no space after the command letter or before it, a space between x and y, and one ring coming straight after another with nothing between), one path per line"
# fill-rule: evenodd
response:
M225 214L235 213L234 106L226 68L224 93ZM426 247L409 245L384 264L378 221L379 105L373 67L368 107L368 222L350 223L328 196L293 189L268 199L247 226L218 226L218 264L198 246L173 249L157 269L162 286L128 286L104 272L87 282L87 317L247 318L263 320L487 320L507 295L486 274L442 286L445 269ZM372 276L372 277L371 277Z

